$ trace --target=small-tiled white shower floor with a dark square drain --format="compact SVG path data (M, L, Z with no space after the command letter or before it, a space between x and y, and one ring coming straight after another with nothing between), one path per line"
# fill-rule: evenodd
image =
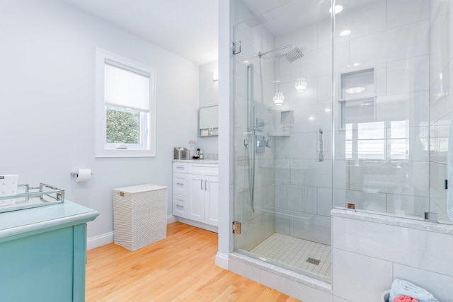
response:
M313 241L273 233L268 239L250 250L251 253L267 260L282 263L295 269L316 274L331 280L331 246ZM319 264L306 262L309 258ZM313 262L313 261L312 261Z

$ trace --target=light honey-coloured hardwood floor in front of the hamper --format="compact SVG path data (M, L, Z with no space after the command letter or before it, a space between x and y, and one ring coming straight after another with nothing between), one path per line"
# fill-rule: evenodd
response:
M217 233L171 223L167 237L134 252L88 251L86 301L299 301L217 267Z

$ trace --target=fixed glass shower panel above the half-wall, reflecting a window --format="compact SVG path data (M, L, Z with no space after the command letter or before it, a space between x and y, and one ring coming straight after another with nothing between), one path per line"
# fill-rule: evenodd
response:
M403 216L430 209L430 20L416 13L424 5L362 1L335 15L337 207L355 202L358 210Z

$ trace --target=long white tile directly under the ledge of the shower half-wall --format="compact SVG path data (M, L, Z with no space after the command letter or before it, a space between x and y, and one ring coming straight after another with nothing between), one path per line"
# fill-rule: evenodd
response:
M333 248L453 276L453 262L445 261L451 235L338 217L333 226Z

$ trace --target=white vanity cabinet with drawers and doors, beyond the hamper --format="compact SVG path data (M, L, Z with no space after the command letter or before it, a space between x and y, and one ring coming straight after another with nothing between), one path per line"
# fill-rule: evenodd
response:
M204 227L219 224L217 162L173 162L173 215L181 222Z

